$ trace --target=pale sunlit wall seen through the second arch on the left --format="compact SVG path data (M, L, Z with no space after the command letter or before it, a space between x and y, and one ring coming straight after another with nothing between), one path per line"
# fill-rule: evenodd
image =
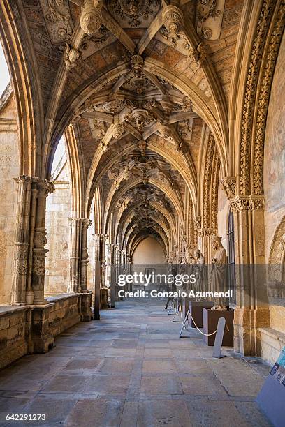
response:
M71 189L67 162L54 182L55 191L47 197L47 259L45 263L45 295L64 294L69 285L71 227Z

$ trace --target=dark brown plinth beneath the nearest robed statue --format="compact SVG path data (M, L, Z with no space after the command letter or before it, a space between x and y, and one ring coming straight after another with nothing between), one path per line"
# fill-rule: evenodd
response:
M226 319L226 327L222 345L233 347L233 313L234 310L218 311L203 308L203 332L204 334L212 334L218 327L220 317ZM203 340L207 345L214 345L216 334L211 336L203 336Z

